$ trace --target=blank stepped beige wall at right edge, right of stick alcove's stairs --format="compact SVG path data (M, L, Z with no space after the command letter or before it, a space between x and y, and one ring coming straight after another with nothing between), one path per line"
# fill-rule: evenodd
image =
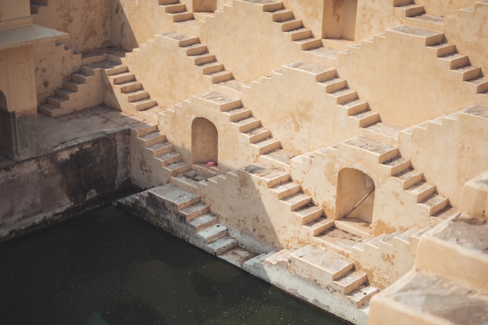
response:
M400 150L427 181L458 207L464 184L488 170L488 110L472 106L401 133ZM446 159L445 157L450 157ZM439 168L443 166L443 168ZM444 172L447 168L450 172Z

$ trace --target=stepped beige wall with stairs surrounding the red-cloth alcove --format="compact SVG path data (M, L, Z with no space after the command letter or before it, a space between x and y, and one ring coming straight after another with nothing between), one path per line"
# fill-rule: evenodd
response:
M193 96L160 115L160 125L186 161L192 161L192 123L209 120L218 134L218 170L227 172L258 161L260 155L281 148L261 121L238 98L210 92ZM233 134L229 136L229 134Z

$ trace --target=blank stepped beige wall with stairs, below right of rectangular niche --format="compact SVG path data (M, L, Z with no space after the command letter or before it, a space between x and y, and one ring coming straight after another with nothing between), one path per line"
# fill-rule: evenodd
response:
M469 65L468 56L455 52L442 33L390 28L372 41L361 41L360 47L350 47L338 59L338 72L386 123L409 127L488 100L488 79ZM397 67L395 73L388 70L392 66Z

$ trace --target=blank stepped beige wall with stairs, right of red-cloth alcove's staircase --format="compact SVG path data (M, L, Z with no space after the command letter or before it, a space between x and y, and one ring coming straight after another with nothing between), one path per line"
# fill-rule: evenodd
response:
M305 61L288 64L270 77L252 82L250 89L242 90L242 98L283 147L297 153L358 134L398 143L399 128L381 123L378 113L334 68ZM340 133L335 132L337 127Z

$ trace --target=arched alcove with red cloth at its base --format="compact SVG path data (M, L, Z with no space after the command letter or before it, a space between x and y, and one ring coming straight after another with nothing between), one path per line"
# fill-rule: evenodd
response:
M192 163L218 162L219 136L217 128L208 119L196 117L191 123Z

